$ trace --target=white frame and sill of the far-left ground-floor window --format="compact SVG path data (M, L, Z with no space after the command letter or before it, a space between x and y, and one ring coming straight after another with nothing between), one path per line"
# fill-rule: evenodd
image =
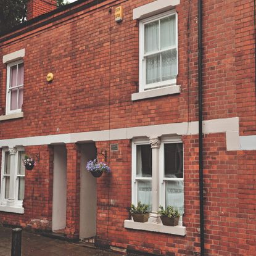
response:
M19 200L19 153L25 152L25 149L19 147L15 149L15 160L14 163L12 159L10 159L10 184L14 181L14 202L12 205L8 205L8 199L5 198L5 191L6 191L6 183L4 178L4 168L6 163L6 152L9 152L9 149L2 149L2 166L1 166L1 195L0 195L0 211L4 212L15 212L15 213L24 213L23 209L23 200ZM14 171L12 170L12 165L14 165ZM10 189L11 186L10 186ZM10 194L10 191L9 191Z

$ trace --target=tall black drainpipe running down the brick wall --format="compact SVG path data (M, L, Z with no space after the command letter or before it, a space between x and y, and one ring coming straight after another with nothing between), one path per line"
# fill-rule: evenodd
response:
M204 165L202 105L202 0L198 0L198 109L199 109L199 194L200 194L200 255L204 256Z

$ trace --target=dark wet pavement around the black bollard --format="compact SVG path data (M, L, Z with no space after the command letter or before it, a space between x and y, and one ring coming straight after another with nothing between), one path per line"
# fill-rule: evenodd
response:
M0 227L0 256L10 256L12 229ZM22 231L22 256L120 256L107 250L86 247L39 234Z

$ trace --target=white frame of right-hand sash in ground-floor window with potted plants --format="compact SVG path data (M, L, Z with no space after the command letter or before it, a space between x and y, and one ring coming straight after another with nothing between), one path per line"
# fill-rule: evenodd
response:
M184 144L183 144L183 178L165 178L165 170L164 170L164 161L165 161L165 154L164 154L164 146L165 144L183 144L181 139L172 139L172 138L163 138L161 139L161 145L159 149L159 159L160 159L160 165L159 165L159 175L160 175L160 205L163 206L164 209L166 209L166 194L165 194L165 181L183 181L184 182ZM181 216L182 217L182 216Z

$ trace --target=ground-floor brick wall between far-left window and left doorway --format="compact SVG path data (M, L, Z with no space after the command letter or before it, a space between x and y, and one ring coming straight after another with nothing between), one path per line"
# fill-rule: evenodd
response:
M27 155L40 154L33 170L25 173L24 214L0 212L1 223L51 230L53 152L48 146L25 147Z

